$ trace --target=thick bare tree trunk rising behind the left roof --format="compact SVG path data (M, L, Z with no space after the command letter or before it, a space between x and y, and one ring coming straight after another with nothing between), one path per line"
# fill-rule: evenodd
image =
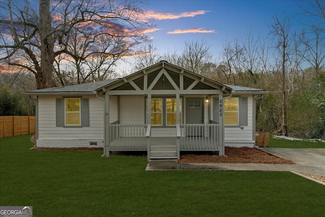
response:
M36 76L37 88L53 86L54 42L51 35L52 17L50 13L50 0L39 0L40 23L39 33L41 39L41 72Z

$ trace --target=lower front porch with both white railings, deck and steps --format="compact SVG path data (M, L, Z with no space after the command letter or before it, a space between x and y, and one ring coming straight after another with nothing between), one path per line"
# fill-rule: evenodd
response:
M177 124L176 136L152 137L150 124L109 125L109 151L147 151L149 159L179 159L180 151L219 151L219 125ZM192 133L196 136L191 136Z

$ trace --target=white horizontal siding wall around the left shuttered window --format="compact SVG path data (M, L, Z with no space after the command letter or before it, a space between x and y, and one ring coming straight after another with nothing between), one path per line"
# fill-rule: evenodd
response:
M98 142L104 139L104 101L95 96L89 98L89 127L63 128L56 127L55 99L61 96L39 96L39 139L37 146L44 147L78 147L89 146L89 142ZM75 140L75 141L71 141Z

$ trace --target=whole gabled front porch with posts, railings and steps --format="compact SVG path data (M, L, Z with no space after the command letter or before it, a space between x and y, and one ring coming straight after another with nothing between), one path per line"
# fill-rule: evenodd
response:
M131 150L147 151L148 160L179 159L180 151L224 155L223 98L231 91L166 61L96 90L105 95L103 156ZM213 98L220 99L217 115Z

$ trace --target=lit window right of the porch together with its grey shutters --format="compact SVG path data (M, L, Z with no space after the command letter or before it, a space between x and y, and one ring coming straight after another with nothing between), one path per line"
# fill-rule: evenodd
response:
M224 100L224 125L226 127L248 126L248 98L233 97ZM213 120L219 122L219 98L214 98Z

